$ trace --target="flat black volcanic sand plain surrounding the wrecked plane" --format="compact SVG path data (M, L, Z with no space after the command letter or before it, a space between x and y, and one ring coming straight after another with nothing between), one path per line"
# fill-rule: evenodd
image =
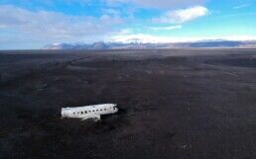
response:
M1 51L0 158L255 159L256 50Z

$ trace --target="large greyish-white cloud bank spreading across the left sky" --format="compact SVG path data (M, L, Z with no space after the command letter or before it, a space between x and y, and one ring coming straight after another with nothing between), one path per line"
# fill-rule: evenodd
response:
M15 31L41 40L102 40L104 36L115 33L112 27L121 23L122 18L108 14L95 18L0 6L0 30Z

